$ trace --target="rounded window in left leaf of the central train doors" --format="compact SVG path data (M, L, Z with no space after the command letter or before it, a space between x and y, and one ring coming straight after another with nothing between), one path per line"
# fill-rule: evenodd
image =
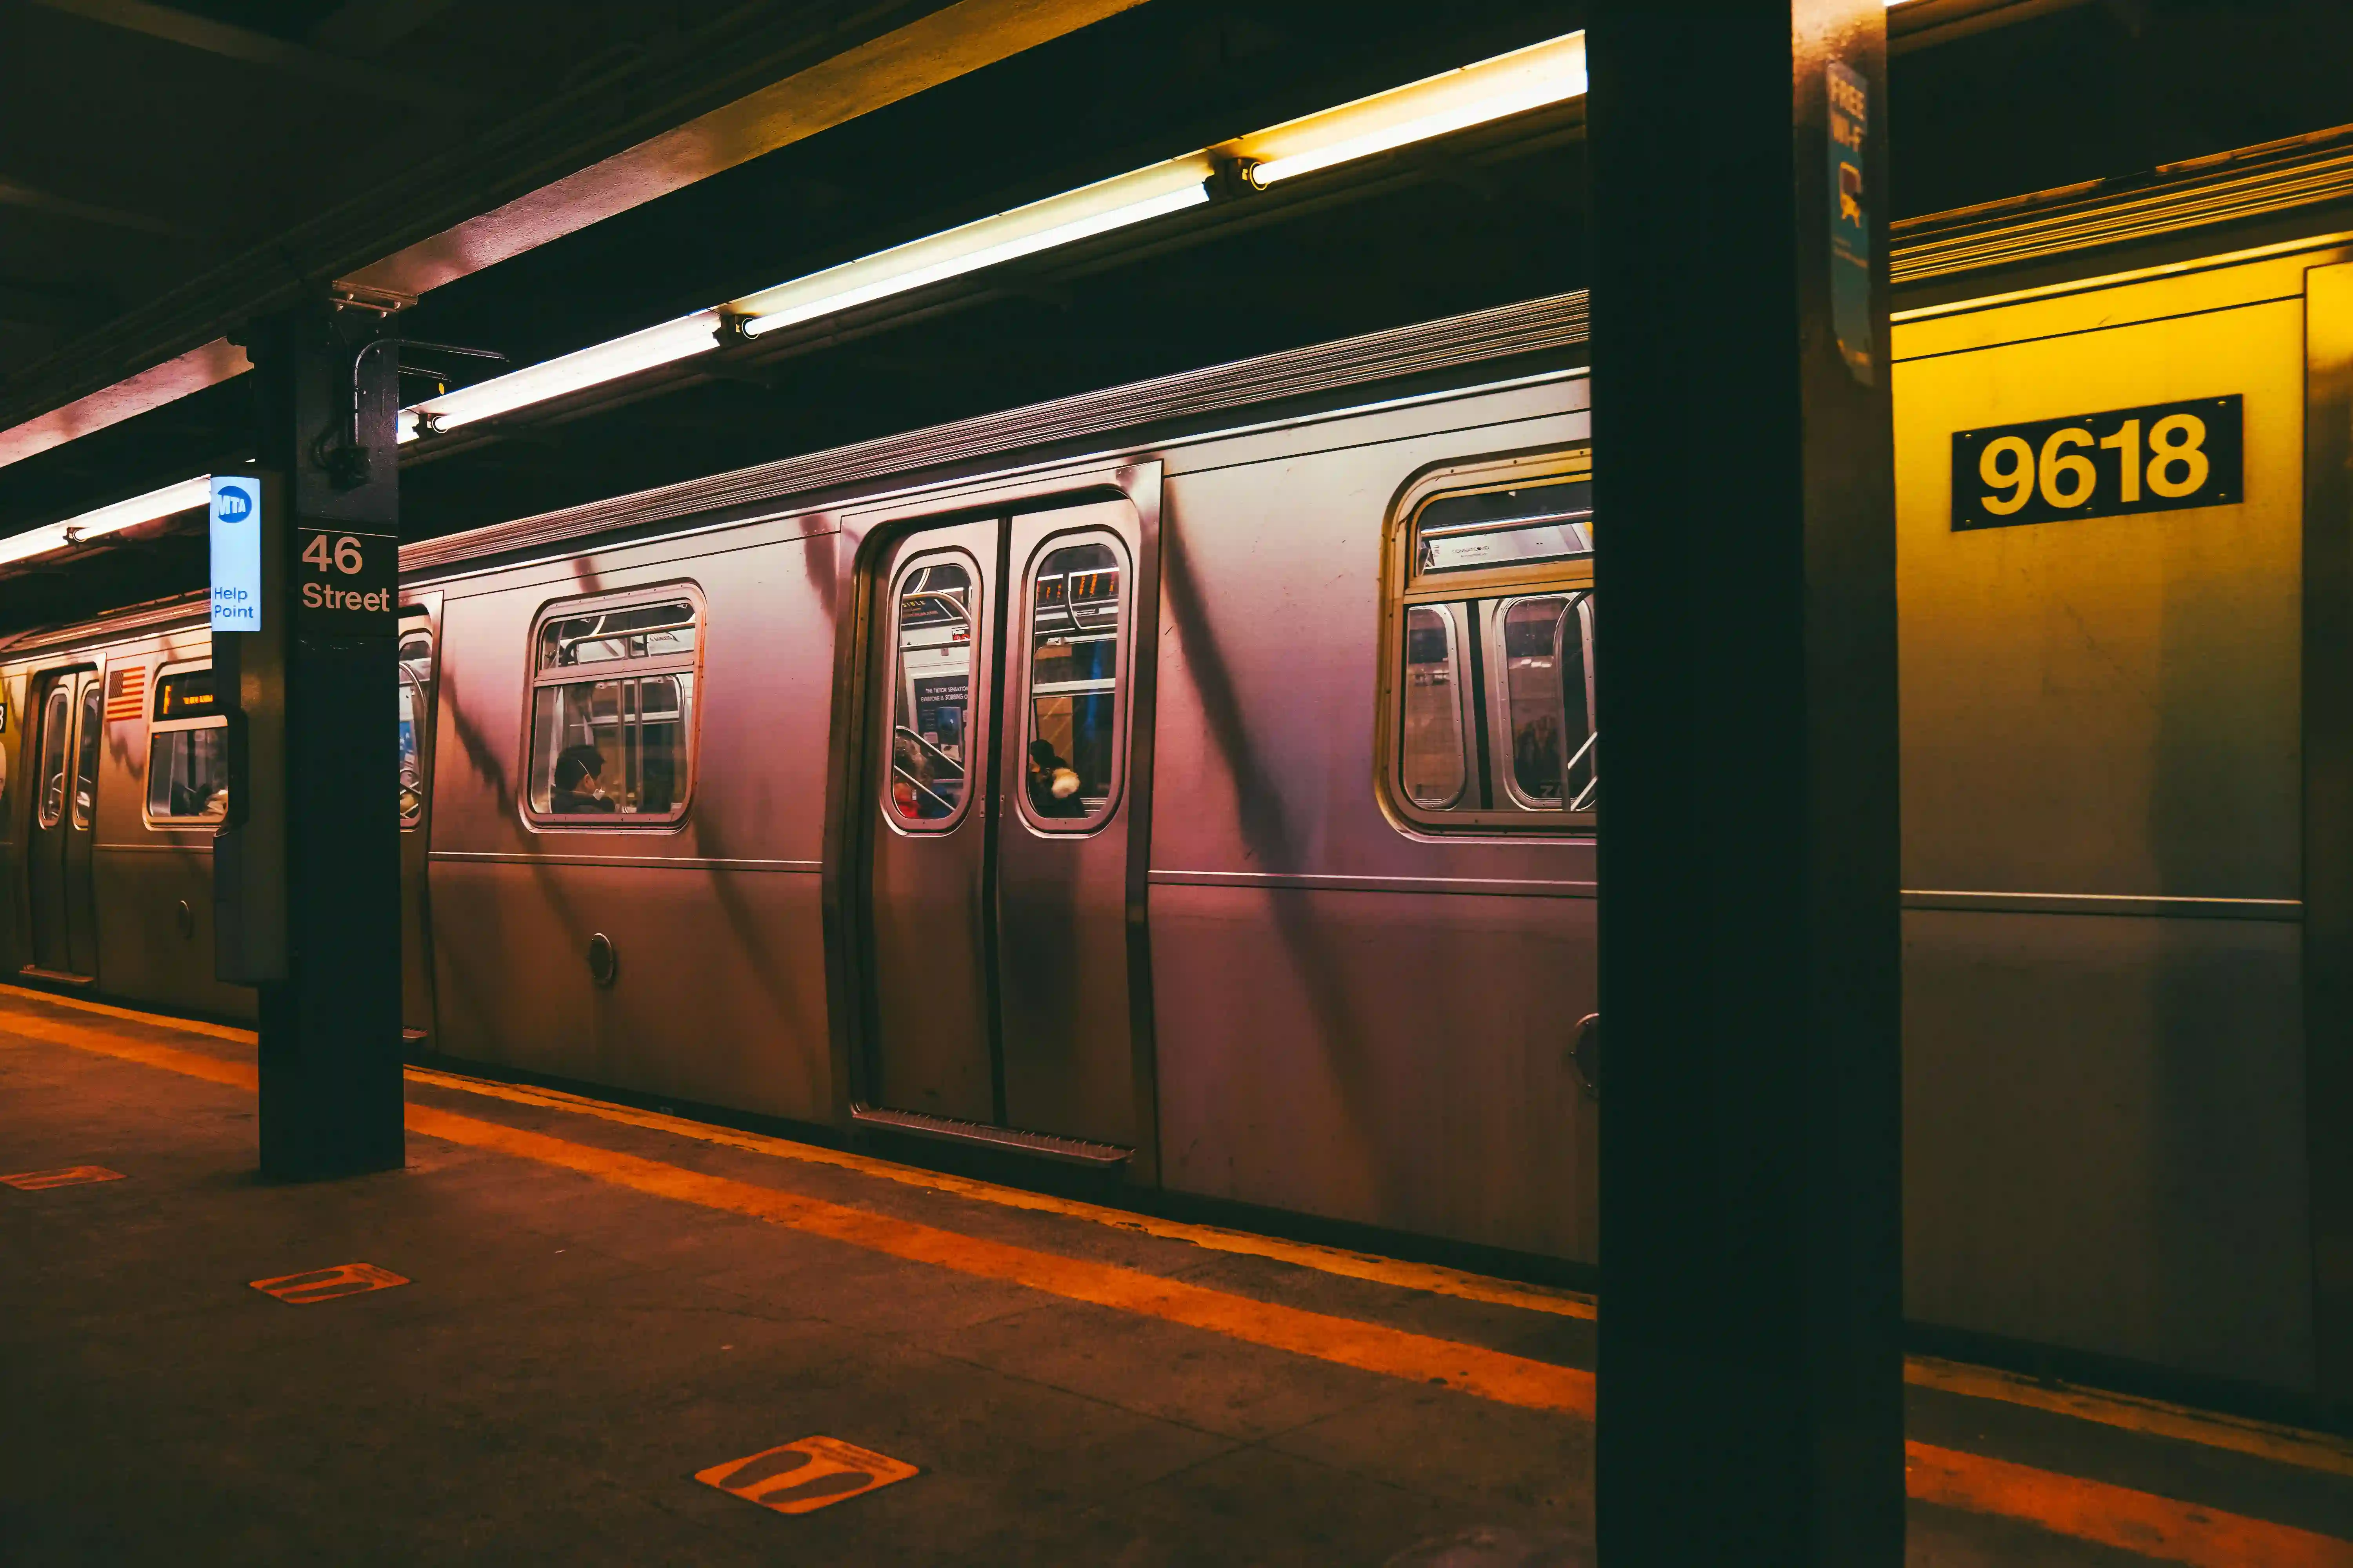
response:
M946 832L965 816L972 762L972 562L918 555L899 574L892 675L889 818Z

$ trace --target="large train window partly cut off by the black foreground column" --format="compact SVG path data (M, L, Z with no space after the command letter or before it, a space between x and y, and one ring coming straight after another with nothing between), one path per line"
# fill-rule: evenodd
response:
M1464 465L1391 531L1384 780L1426 827L1588 830L1593 484L1584 454Z

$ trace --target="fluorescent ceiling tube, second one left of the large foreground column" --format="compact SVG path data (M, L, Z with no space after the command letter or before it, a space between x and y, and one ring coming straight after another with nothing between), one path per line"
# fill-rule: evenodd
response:
M927 240L911 240L824 273L795 277L774 289L748 294L727 310L739 317L736 331L755 339L779 327L979 273L1056 244L1200 207L1209 200L1205 181L1214 172L1217 165L1205 153L1172 158L1134 174L1049 195L993 219L979 219Z

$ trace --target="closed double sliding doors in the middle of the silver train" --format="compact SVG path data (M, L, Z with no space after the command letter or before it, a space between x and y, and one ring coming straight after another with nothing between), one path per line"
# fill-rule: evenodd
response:
M1108 501L922 529L880 562L866 1121L1094 1161L1136 1143L1139 552Z

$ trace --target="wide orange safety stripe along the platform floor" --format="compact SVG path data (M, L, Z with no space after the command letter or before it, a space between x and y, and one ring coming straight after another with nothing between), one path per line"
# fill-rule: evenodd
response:
M9 1016L5 1027L31 1039L113 1056L146 1067L162 1067L212 1084L259 1086L259 1072L247 1063L228 1063L176 1046L125 1039L106 1030L21 1013ZM1438 1382L1497 1403L1593 1418L1593 1373L1572 1366L1553 1366L1548 1361L1457 1345L1325 1312L1259 1302L1120 1265L965 1237L915 1220L899 1220L776 1187L687 1171L659 1159L569 1143L499 1121L459 1117L428 1105L409 1105L407 1126L442 1143L558 1166L649 1197L758 1218L908 1262L1000 1279L1064 1300L1155 1316L1388 1378L1424 1385ZM1920 1502L1972 1514L2000 1514L2057 1535L2188 1563L2191 1568L2245 1568L2247 1563L2353 1568L2353 1542L2268 1519L2207 1509L2155 1493L2085 1481L1932 1443L1906 1441L1904 1453L1906 1486Z

